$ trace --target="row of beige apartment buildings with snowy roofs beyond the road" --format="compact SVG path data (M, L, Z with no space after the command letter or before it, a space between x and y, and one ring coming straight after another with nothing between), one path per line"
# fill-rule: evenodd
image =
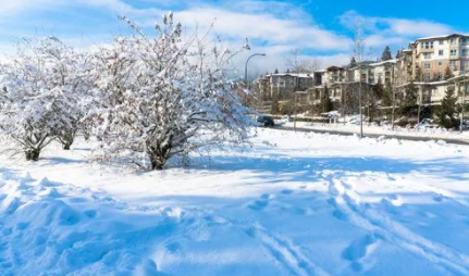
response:
M300 105L317 104L328 87L337 106L345 93L357 92L349 89L350 84L359 83L368 88L377 84L404 88L414 83L420 91L419 103L432 105L440 104L445 91L454 88L458 102L465 99L468 103L469 35L420 38L399 51L395 60L363 62L355 67L330 66L311 74L271 74L257 85L267 98L295 100Z

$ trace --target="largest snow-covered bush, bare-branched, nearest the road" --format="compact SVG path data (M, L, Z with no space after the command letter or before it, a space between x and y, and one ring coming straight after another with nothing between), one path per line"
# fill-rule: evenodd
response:
M155 37L123 20L135 35L97 54L101 106L94 117L103 159L161 170L173 156L247 138L248 110L224 71L235 53L197 36L183 42L172 14L156 26Z

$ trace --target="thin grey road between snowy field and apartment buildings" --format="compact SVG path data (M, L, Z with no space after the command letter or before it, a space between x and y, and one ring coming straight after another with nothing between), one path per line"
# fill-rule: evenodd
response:
M282 130L291 130L294 131L295 128L293 126L275 126L273 127L273 129L282 129ZM351 135L356 135L357 133L355 131L349 131L349 130L336 130L336 129L330 129L330 130L325 130L325 129L314 129L314 128L306 128L306 127L296 127L297 131L300 133L318 133L318 134L336 134L336 135L347 135L347 136L351 136ZM462 146L469 146L469 140L461 140L461 139L456 139L456 138L432 138L432 137L424 137L424 136L406 136L406 135L384 135L384 134L367 134L363 133L365 137L370 137L370 138L378 138L380 136L385 136L388 138L396 138L396 139L400 139L400 140L410 140L410 141L432 141L432 140L443 140L447 143L454 143L454 145L462 145Z

